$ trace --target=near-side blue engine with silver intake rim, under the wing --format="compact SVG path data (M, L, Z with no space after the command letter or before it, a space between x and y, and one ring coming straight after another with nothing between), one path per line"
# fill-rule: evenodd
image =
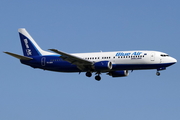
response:
M111 70L112 69L112 63L110 61L100 61L94 63L93 68L96 71L106 71L106 70Z

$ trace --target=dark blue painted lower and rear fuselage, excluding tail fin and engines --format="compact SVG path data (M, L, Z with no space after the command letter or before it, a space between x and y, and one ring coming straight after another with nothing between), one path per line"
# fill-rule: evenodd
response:
M45 65L42 66L42 58L45 58ZM81 72L76 65L73 65L60 58L60 55L53 56L36 56L33 60L21 60L21 63L29 65L33 68L57 72ZM112 71L115 70L140 70L140 69L159 69L168 67L174 63L159 63L159 64L113 64Z

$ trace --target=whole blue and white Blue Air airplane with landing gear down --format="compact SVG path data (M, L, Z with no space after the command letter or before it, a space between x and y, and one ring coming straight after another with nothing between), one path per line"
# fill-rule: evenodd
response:
M87 77L95 73L101 80L101 73L112 77L126 77L129 71L156 69L161 70L175 64L177 60L159 51L135 50L114 52L93 52L69 54L57 49L42 50L25 28L18 29L24 55L4 52L18 58L22 64L33 68L55 72L85 72Z

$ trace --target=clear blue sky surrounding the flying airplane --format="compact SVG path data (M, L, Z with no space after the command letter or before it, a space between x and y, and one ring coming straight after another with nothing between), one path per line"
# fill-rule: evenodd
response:
M156 50L177 60L178 0L1 0L0 50L22 54L18 28L68 53ZM179 120L179 63L128 77L33 69L1 54L1 120Z

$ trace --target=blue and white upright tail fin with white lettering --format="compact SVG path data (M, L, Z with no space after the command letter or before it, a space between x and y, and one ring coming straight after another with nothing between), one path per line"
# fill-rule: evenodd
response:
M18 29L18 32L24 56L32 57L52 54L42 50L25 28Z

